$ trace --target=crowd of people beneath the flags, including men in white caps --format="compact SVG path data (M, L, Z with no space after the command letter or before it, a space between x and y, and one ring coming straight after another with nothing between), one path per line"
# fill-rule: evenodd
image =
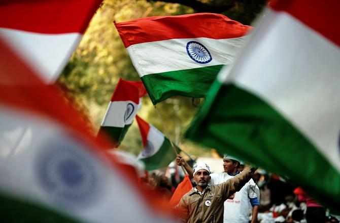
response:
M263 169L244 167L230 155L224 155L221 173L212 173L201 162L191 167L181 156L175 163L185 168L193 185L176 207L182 222L339 222L340 216L330 214L301 188ZM154 171L143 177L143 182L169 200L183 179L176 177Z

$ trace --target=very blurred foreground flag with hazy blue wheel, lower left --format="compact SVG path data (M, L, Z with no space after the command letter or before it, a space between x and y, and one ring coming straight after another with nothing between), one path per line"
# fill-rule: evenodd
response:
M170 221L150 208L145 190L117 160L94 144L61 92L37 78L1 39L0 58L3 222Z

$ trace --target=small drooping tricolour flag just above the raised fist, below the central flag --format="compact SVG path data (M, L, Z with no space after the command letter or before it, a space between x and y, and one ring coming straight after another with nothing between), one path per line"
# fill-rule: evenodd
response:
M145 163L146 170L160 169L169 165L176 158L170 141L152 124L136 116L141 131L143 150L138 159ZM176 147L177 153L180 148Z

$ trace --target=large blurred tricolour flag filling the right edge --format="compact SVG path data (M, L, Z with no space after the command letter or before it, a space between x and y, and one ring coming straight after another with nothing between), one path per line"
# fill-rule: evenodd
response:
M272 1L187 131L340 206L339 1Z

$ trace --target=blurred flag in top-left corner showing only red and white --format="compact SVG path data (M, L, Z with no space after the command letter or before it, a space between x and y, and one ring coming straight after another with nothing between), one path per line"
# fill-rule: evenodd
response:
M101 0L1 1L0 37L48 83L59 76Z

